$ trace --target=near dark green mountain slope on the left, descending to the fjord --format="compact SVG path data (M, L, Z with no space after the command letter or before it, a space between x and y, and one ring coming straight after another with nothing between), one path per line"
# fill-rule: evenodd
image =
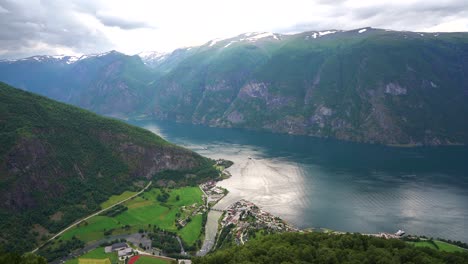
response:
M9 251L31 249L113 194L171 180L160 174L213 176L211 160L147 130L4 83L0 135L0 248Z

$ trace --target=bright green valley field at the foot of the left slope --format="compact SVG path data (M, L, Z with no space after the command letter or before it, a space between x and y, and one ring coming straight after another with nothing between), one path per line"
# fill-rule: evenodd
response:
M112 235L135 233L140 229L149 230L151 229L149 225L151 225L177 232L188 245L193 245L200 236L202 216L193 216L192 221L180 230L175 225L175 219L177 213L184 215L180 207L189 207L193 204L201 205L202 192L198 187L168 189L167 192L170 195L167 202L161 203L157 201L157 196L161 194L161 191L157 188L150 189L123 203L124 206L128 207L127 211L115 217L95 216L86 223L67 231L60 239L69 240L76 236L84 242L90 242L105 237L104 232L109 232L109 230L112 230ZM115 200L116 198L111 197L111 199Z

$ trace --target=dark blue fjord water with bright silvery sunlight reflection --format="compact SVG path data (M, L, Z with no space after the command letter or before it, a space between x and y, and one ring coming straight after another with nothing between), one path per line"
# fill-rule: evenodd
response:
M330 139L131 121L235 162L219 206L246 198L300 228L468 242L468 148L393 148ZM249 157L251 159L249 159Z

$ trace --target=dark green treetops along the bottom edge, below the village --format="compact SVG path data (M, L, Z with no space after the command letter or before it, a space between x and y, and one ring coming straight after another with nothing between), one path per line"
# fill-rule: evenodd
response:
M468 263L468 253L447 253L396 239L359 234L285 233L218 250L193 263Z

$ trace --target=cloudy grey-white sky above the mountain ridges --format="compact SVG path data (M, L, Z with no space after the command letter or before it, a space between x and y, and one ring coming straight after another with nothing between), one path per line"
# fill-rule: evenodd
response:
M0 58L171 51L244 32L468 31L466 0L0 0Z

